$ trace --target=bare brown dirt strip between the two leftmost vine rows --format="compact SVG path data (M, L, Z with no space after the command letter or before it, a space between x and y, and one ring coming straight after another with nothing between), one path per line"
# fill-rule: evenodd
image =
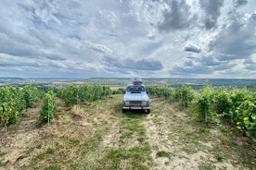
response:
M7 133L3 130L0 132L0 160L2 164L6 164L7 169L17 169L23 164L29 164L29 159L23 159L22 156L39 138L40 109L40 103L28 108L16 125L7 128Z

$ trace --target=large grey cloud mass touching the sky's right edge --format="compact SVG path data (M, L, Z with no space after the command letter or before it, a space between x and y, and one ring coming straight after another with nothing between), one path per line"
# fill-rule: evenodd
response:
M256 51L256 14L245 22L237 15L210 42L210 50L219 60L246 59Z

